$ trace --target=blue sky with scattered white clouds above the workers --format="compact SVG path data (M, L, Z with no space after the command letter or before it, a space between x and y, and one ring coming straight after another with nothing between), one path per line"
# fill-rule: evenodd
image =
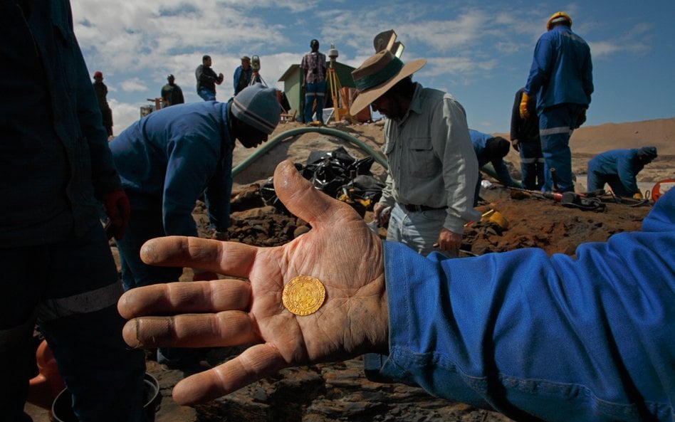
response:
M160 96L175 75L185 101L201 101L194 70L209 54L233 95L241 56L258 55L269 86L310 51L331 44L338 62L358 67L375 53L373 38L393 29L402 60L427 59L413 80L450 93L469 127L508 132L513 97L525 85L535 43L556 11L590 46L592 95L586 125L675 117L673 0L315 1L73 0L75 36L90 75L103 72L119 134Z

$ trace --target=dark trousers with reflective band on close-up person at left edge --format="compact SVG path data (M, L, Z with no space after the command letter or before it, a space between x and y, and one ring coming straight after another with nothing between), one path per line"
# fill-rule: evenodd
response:
M80 238L0 248L0 418L23 414L37 322L80 421L144 421L145 356L122 339L122 286L98 221Z

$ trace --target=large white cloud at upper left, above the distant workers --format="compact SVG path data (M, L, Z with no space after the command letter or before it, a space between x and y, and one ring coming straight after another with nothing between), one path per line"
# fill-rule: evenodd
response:
M184 51L194 51L197 60L208 53L216 61L226 51L238 55L241 46L270 39L283 43L283 26L246 13L247 2L229 3L82 0L73 5L75 33L98 67L126 71L152 67Z

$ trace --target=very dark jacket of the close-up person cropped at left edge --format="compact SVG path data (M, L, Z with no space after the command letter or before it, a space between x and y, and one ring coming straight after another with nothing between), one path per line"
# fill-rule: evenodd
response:
M63 241L121 189L68 1L0 3L0 246Z

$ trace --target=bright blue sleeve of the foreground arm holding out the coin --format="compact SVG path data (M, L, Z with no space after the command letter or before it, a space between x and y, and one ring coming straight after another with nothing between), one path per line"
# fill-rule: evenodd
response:
M576 258L385 243L382 374L516 420L672 421L675 191L643 227Z

